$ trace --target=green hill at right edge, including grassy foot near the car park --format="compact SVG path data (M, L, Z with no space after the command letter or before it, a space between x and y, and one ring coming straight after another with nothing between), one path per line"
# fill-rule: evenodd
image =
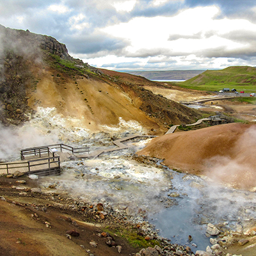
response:
M237 90L246 90L246 92L255 92L256 68L241 66L207 70L180 85L197 90L221 90L232 87Z

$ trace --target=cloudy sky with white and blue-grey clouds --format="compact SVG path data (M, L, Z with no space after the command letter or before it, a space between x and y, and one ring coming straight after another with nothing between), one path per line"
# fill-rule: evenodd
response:
M255 0L0 0L0 24L112 70L256 66Z

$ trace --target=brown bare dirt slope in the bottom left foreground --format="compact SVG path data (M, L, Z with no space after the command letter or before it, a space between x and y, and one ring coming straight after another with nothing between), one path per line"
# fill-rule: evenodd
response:
M37 187L36 182L24 180L26 187ZM111 217L106 216L105 220L96 217L95 205L92 209L85 206L84 210L72 210L67 205L74 202L67 198L56 193L43 195L31 193L30 189L17 189L21 186L15 181L0 178L0 255L120 255L116 246L108 246L106 238L98 236ZM68 230L76 230L79 236L68 239ZM90 245L92 241L97 247ZM115 237L115 242L122 246L122 255L138 252L120 236Z

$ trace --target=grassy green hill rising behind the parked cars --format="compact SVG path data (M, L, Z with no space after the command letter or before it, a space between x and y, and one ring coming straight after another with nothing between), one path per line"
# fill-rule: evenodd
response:
M221 85L250 85L256 84L256 68L248 66L235 66L223 70L207 70L183 83L187 86Z

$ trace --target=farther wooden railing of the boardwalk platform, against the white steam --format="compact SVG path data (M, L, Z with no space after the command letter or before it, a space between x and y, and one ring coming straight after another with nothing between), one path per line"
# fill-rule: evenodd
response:
M81 148L74 148L65 144L54 144L54 145L47 145L42 147L35 147L35 148L26 148L20 150L20 160L24 160L25 156L38 156L42 157L43 154L47 154L47 156L50 156L52 154L52 149L56 148L56 150L60 150L63 152L63 150L68 150L72 152L72 154L78 154L78 153L89 153L90 148L89 147L81 147ZM54 154L52 154L54 156Z

